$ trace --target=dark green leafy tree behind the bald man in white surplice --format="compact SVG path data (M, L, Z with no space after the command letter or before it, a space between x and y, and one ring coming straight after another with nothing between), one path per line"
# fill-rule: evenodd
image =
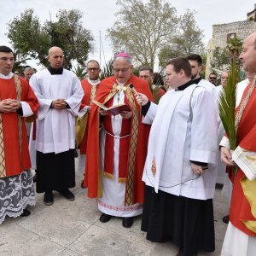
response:
M93 38L82 26L82 17L77 9L59 10L57 21L46 20L42 26L33 9L26 9L20 17L9 21L7 36L19 55L38 59L44 66L48 64L46 57L52 46L63 49L64 67L71 68L74 60L83 66Z

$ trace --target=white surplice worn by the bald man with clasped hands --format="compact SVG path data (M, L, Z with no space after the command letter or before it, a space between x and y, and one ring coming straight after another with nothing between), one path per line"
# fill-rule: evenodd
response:
M84 96L80 80L71 71L51 75L44 69L32 75L30 81L40 107L38 109L36 150L55 154L75 147L75 116ZM70 108L50 108L51 102L65 99Z

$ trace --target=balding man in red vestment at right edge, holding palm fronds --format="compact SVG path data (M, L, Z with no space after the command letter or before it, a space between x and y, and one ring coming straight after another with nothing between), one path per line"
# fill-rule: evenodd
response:
M243 69L256 73L256 32L243 43L239 56ZM230 150L228 137L220 143L221 160L226 166L237 166L236 176L230 173L233 191L230 222L221 255L255 255L256 252L256 90L255 79L247 85L236 109L236 149Z

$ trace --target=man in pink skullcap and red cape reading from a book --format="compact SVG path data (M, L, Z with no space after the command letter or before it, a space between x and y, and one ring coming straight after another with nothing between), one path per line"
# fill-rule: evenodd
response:
M88 196L98 198L100 221L121 217L125 228L143 211L142 174L150 129L141 122L136 91L152 100L148 83L132 74L131 55L120 53L113 60L113 76L101 82L96 101L108 108L125 103L131 111L113 116L92 104L85 164Z

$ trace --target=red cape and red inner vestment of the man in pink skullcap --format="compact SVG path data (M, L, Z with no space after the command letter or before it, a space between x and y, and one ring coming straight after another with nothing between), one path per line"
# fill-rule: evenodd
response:
M109 92L113 89L113 84L117 84L117 81L114 77L110 77L108 79L102 80L99 90L97 91L95 100L97 102L103 103L105 98L108 96ZM133 84L137 92L141 92L148 96L150 101L153 101L152 94L148 88L148 83L143 81L142 79L138 79L136 76L131 75L131 78L126 82L126 84ZM126 96L125 96L126 97ZM109 102L113 101L113 97L109 99ZM108 103L107 102L107 105ZM125 103L127 103L127 99L125 98ZM136 102L137 105L137 102ZM137 110L140 112L140 106L137 105ZM106 118L106 119L105 119ZM103 117L103 123L107 126L106 129L111 131L109 125L109 117ZM85 164L85 185L88 186L88 196L90 198L97 198L101 197L101 173L103 170L100 166L100 152L99 152L99 125L100 125L100 114L98 112L98 107L93 104L91 111L90 111L90 121L89 121L89 137L87 143L87 156L86 156L86 164ZM142 116L139 116L138 121L138 135L137 135L137 148L136 148L136 155L135 155L135 172L133 177L133 203L143 203L143 182L142 182L142 175L143 175L143 168L144 162L146 159L147 148L148 148L148 136L149 136L150 125L142 124ZM123 119L122 121L122 134L129 134L131 133L131 120L130 119ZM106 136L107 139L107 136ZM122 139L120 139L120 143ZM107 141L106 141L107 143ZM109 155L112 155L113 145L110 143L109 145ZM126 145L126 147L125 147ZM126 160L119 162L119 166L122 166L123 170L125 170L125 177L127 176L128 170L128 161L127 156L130 152L130 139L124 141L124 145L121 146L119 160L124 159ZM125 147L121 148L121 147ZM108 150L106 148L106 150ZM108 166L113 166L113 157L110 157L108 160ZM106 154L105 154L105 164L106 164ZM112 171L112 170L111 170ZM120 173L119 173L120 175Z

